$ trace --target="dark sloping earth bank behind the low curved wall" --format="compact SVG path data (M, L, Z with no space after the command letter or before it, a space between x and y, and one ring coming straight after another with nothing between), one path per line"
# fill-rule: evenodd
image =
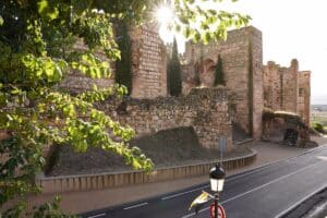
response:
M207 149L201 146L193 128L159 131L155 135L132 141L131 146L140 147L155 162L156 168L203 162L220 157L217 149ZM233 152L225 154L225 157L247 154L251 154L251 150L240 146ZM77 154L69 146L62 146L56 159L49 175L132 170L121 157L97 148Z

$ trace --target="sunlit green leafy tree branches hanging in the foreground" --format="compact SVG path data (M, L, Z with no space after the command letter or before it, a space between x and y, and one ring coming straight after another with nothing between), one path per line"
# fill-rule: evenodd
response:
M40 191L34 178L45 165L45 145L69 144L77 152L98 147L122 156L134 169L153 169L140 148L128 145L134 131L93 105L109 96L125 95L126 87L95 87L71 95L58 84L72 71L90 78L110 76L110 63L120 58L126 61L120 56L112 23L142 24L148 21L156 2L0 1L0 131L9 135L0 142L0 155L9 155L0 164L0 206L13 198L17 202L4 217L24 217L26 195ZM229 27L246 25L250 20L239 13L198 10L193 0L174 3L178 17L171 27L194 41L226 38ZM197 26L191 25L195 17L202 21L201 28L192 27ZM209 27L215 24L219 25ZM84 43L85 48L75 48L76 41ZM100 60L98 51L108 61ZM46 217L45 213L61 217L48 211L56 208L56 204L41 206L35 217Z

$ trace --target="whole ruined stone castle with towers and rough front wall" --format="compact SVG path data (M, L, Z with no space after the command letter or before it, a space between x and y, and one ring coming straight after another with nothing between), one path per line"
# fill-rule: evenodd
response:
M100 108L133 126L138 135L193 126L203 146L217 147L218 137L225 135L228 149L231 149L233 125L253 138L262 136L265 107L299 113L308 124L311 72L299 72L296 60L290 68L280 68L274 62L263 65L262 33L253 26L229 32L226 41L187 43L181 97L168 96L167 50L158 33L149 27L135 27L130 36L131 98L116 108L106 104ZM226 87L217 88L214 78L218 55L222 60ZM81 89L90 88L92 83L89 78L72 75L62 86ZM96 83L106 87L113 80Z

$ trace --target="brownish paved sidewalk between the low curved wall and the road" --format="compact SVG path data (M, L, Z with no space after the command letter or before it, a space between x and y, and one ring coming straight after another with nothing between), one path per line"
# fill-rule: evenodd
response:
M327 144L327 137L312 136L319 145ZM249 143L240 146L247 146L257 152L257 158L251 166L227 171L227 175L250 170L263 165L271 164L281 159L293 157L310 150L311 148L298 148L287 145L279 145L265 142ZM85 191L85 192L68 192L62 193L61 208L66 213L84 213L100 209L113 205L133 202L167 192L173 192L180 189L192 186L198 183L208 182L208 175L187 178L174 181L165 181L158 183L140 184L128 187L117 187L108 190ZM51 201L53 195L38 195L28 198L32 205Z

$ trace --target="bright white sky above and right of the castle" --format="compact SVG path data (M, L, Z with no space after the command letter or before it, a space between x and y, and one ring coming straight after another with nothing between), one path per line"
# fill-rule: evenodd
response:
M263 32L264 64L289 66L298 59L301 71L312 71L312 104L327 105L325 0L225 0L215 8L251 15L250 25Z

